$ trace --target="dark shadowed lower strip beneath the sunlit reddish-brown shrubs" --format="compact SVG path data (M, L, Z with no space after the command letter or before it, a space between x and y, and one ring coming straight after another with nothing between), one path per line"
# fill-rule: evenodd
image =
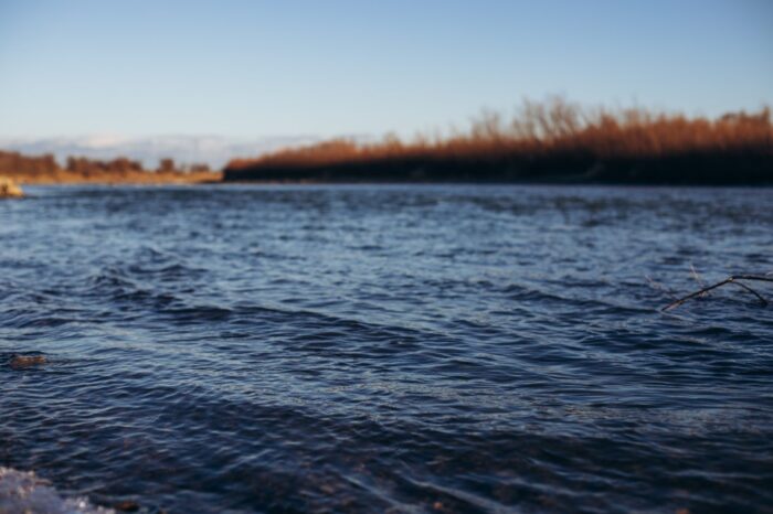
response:
M541 184L773 185L773 156L650 159L383 159L331 165L226 168L224 182L460 182Z

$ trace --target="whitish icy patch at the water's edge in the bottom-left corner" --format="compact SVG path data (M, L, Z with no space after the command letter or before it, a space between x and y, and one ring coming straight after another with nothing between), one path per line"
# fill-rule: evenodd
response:
M115 514L85 497L62 497L50 482L32 471L0 467L2 514Z

